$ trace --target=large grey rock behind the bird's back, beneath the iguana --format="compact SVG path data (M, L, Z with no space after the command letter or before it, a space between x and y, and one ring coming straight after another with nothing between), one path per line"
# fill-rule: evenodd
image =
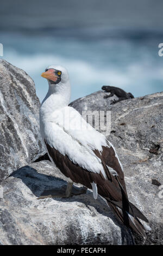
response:
M96 96L98 102L98 92ZM77 110L82 114L80 102ZM76 108L78 100L71 105ZM101 109L104 106L101 102ZM96 107L92 104L92 111L100 110ZM106 110L111 111L111 133L107 138L122 162L129 199L149 219L152 228L145 244L163 245L163 186L153 182L163 185L163 92L123 100L108 105ZM135 241L144 243L138 237Z

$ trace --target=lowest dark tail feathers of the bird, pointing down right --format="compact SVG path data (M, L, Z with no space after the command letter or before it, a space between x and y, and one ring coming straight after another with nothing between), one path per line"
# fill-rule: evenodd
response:
M107 200L107 203L121 223L133 229L138 235L146 238L145 228L143 227L139 219L137 219L137 217L130 215L128 212L124 213L124 211L120 207L118 207L111 201Z

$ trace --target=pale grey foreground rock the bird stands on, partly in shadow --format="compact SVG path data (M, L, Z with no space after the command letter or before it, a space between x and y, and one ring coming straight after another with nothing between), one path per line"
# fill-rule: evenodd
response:
M132 245L131 231L92 192L71 198L39 199L66 181L49 161L32 163L3 181L0 201L2 245Z

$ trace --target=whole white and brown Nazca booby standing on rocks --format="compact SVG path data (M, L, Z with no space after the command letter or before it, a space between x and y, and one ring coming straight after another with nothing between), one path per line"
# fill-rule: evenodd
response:
M123 168L112 144L90 126L71 106L68 72L61 66L49 66L41 74L49 90L40 107L40 132L49 158L67 178L65 197L73 182L101 195L119 221L146 237L138 218L148 222L130 203Z

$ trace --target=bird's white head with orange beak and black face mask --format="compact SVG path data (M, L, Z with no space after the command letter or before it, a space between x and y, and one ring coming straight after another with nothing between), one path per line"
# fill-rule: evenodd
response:
M62 104L70 102L71 86L66 68L52 65L46 68L41 76L46 78L49 84L49 90L43 102L52 94L53 98L55 96L58 98L58 100L55 99L56 102L59 100Z

